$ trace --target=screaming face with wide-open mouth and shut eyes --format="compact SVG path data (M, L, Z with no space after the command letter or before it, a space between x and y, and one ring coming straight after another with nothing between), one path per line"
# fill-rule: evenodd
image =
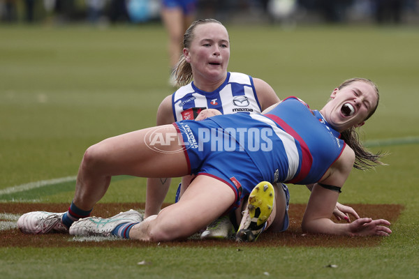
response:
M339 132L364 125L378 101L374 87L362 81L335 89L330 98L332 100L323 107L321 114Z

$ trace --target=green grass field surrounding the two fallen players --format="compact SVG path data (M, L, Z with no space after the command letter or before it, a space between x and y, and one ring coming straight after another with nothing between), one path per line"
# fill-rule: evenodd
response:
M298 96L320 108L349 77L378 84L381 103L362 134L372 150L390 153L388 166L354 171L339 202L403 204L392 235L368 248L7 247L0 248L2 277L418 278L418 29L228 30L229 70L262 78L279 98ZM172 93L168 71L160 25L0 26L0 201L71 202L71 179L88 146L154 125L156 108ZM291 206L307 202L304 187L290 192ZM174 195L172 187L166 202ZM101 202L145 202L145 179L112 182ZM143 260L151 264L137 264ZM337 268L325 267L330 264Z

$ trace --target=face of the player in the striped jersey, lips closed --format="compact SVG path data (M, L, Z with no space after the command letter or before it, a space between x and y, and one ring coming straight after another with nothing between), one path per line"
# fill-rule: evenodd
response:
M191 64L193 80L224 80L230 59L227 29L214 22L198 25L193 31L190 47L184 48L184 57Z

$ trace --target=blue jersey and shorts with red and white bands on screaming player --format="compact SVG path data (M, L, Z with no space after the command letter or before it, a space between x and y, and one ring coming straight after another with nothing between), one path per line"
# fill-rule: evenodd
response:
M298 98L268 114L226 114L174 123L183 137L191 174L224 181L240 197L260 181L311 184L344 149L340 134Z

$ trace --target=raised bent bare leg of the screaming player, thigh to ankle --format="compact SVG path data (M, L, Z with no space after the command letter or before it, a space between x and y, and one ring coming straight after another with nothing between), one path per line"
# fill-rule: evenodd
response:
M177 141L159 146L155 151L145 142L157 128L138 130L103 140L89 147L80 164L73 202L82 210L90 210L108 190L115 175L141 177L177 177L188 174L188 165ZM176 134L172 125L160 126L159 132Z

